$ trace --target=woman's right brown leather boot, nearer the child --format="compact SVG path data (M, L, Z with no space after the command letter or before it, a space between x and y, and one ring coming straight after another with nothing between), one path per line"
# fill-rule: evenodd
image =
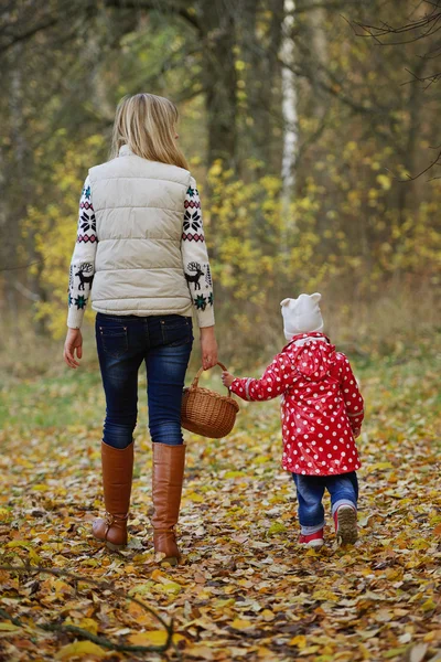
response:
M174 526L181 505L184 466L184 444L153 444L153 544L155 553L161 552L165 555L161 562L168 562L170 565L178 565L181 559Z

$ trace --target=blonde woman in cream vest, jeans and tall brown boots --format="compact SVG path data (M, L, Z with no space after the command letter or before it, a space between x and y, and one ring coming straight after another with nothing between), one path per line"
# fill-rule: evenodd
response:
M178 110L163 97L125 97L111 160L89 170L71 264L64 359L79 365L90 292L106 394L101 442L106 516L93 534L127 544L137 425L138 370L146 362L153 442L154 551L175 565L185 446L181 398L192 350L192 309L205 370L217 362L213 285L196 182L176 146Z

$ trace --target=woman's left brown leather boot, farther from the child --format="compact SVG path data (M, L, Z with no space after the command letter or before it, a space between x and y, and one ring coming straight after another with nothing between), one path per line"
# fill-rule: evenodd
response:
M127 545L131 479L133 472L133 441L127 448L112 448L101 442L103 488L106 516L95 520L93 534L106 542L109 549Z

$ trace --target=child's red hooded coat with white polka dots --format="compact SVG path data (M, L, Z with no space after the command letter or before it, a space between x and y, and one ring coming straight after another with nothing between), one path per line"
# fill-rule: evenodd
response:
M363 397L347 357L323 333L294 335L260 380L235 378L232 391L248 401L281 395L287 471L336 476L359 469L354 436Z

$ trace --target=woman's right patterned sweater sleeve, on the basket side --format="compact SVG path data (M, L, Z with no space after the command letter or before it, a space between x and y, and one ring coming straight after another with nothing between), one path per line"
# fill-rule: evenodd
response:
M193 178L185 194L182 263L200 328L213 327L213 282L202 223L201 200Z

